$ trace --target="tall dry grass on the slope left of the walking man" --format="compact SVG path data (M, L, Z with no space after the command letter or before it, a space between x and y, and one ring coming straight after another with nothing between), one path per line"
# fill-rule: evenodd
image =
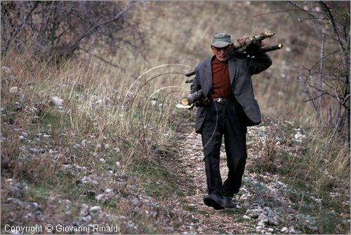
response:
M110 172L126 184L131 180L142 185L155 197L176 193L171 168L176 165L178 123L172 116L181 94L172 88L152 94L157 84L166 85L173 77L147 81L150 76L145 75L133 83L128 73L82 59L57 68L31 57L30 50L6 55L1 64L1 107L6 111L1 120L1 176L27 184L31 191L22 200L37 201L47 214L57 211L58 220L79 217L81 201L96 203L94 197L106 188L130 194L119 181L111 181ZM62 99L62 106L53 97ZM84 183L84 178L98 180L98 187ZM4 186L2 197L10 197L8 192ZM60 207L48 203L56 194L76 205L68 218ZM152 222L131 215L133 205L124 201L108 199L101 206L135 222ZM7 213L11 210L2 209L8 215L1 218L3 224L13 221L12 213ZM42 224L38 218L26 221Z

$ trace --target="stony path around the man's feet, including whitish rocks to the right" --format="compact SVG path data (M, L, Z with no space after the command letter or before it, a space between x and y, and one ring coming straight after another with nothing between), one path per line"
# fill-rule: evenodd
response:
M260 156L262 144L267 139L267 127L249 127L247 134L248 159L246 169ZM186 128L181 135L186 138L185 148L180 150L183 155L182 166L188 182L183 192L186 196L180 201L183 209L192 212L193 220L183 225L180 231L190 233L230 233L230 234L300 234L296 228L297 216L301 215L293 209L293 202L286 197L292 190L282 183L279 176L272 173L258 174L246 171L240 192L234 195L236 208L216 211L204 205L202 197L206 194L206 175L202 160L201 135ZM220 173L227 178L224 145L220 153ZM312 218L305 218L309 229L314 229Z

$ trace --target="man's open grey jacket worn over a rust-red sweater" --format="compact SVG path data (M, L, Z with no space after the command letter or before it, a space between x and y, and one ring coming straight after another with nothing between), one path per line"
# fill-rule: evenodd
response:
M195 68L195 78L190 86L191 93L196 92L197 86L201 85L204 97L211 97L210 94L213 90L211 59L214 56L204 59ZM245 55L232 55L228 61L232 94L234 94L249 118L250 122L246 123L247 126L260 124L261 122L260 108L253 94L251 75L264 71L271 64L272 60L267 53L256 55L254 58ZM206 106L201 106L197 111L195 123L195 130L198 133L205 118Z

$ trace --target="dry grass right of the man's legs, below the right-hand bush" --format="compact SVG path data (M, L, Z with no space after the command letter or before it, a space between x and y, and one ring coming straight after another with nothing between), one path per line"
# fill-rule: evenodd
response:
M350 147L338 139L327 144L330 138L328 129L265 118L249 145L255 157L249 171L279 175L293 189L283 193L298 213L316 218L318 231L325 234L350 229L343 222L350 215Z

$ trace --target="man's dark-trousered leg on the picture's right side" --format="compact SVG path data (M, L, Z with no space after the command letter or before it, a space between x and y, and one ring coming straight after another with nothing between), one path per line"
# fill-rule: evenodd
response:
M246 125L239 105L226 107L225 152L227 153L228 178L223 185L223 196L232 197L239 192L246 165Z

